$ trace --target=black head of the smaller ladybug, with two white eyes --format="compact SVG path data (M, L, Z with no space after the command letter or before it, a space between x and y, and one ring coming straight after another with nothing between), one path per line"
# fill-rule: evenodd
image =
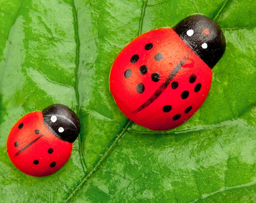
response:
M44 124L63 141L74 142L80 132L76 113L63 104L52 104L43 111Z

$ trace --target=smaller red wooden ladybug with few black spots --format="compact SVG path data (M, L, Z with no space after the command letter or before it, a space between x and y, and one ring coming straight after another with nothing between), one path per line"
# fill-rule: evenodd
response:
M79 132L76 113L63 104L52 104L17 121L7 139L7 152L21 172L32 176L50 175L70 158Z

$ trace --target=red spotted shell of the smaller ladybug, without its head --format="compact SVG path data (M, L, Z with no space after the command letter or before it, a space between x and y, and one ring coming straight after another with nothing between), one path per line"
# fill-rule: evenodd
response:
M32 176L58 171L72 152L72 143L57 138L43 120L41 111L26 114L12 127L7 139L7 152L12 163ZM36 134L35 130L39 133L37 131Z

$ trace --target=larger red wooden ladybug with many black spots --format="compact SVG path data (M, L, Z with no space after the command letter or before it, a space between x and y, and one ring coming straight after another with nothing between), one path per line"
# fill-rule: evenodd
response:
M211 69L225 47L221 28L203 15L189 16L173 29L142 34L113 62L113 98L125 116L143 127L175 128L204 103Z

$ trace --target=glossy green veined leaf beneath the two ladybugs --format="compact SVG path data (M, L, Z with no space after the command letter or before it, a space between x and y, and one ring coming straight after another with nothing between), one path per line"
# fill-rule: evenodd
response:
M256 3L253 0L1 0L0 201L255 202ZM215 19L227 49L203 106L185 124L153 132L120 112L113 60L146 31L190 14ZM53 175L9 160L9 130L52 103L71 107L81 133Z

